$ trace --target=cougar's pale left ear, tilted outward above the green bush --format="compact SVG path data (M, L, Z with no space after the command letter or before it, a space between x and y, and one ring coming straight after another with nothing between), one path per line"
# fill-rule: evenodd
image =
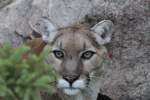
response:
M39 18L29 23L31 28L41 34L42 40L51 43L57 35L57 26L47 18Z

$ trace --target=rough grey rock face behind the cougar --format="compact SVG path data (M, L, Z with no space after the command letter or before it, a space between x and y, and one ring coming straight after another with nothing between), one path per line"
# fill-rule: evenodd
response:
M5 0L4 0L5 1ZM58 27L103 19L115 24L112 65L102 78L101 93L113 100L150 100L150 0L14 0L0 5L0 41L22 42L32 24L47 17ZM11 1L11 0L10 0Z

